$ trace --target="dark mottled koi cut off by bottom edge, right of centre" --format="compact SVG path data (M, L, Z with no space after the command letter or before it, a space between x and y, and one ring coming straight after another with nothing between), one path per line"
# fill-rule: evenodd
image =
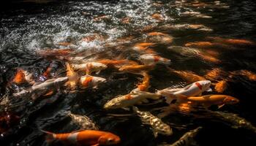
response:
M195 145L195 137L202 127L195 128L194 130L188 131L178 141L174 142L170 146L189 146Z

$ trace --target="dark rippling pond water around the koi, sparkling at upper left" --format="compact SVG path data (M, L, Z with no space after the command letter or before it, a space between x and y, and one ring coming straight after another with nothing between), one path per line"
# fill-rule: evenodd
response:
M211 113L215 112L206 110L173 111L162 118L173 128L173 135L166 137L159 134L159 137L154 138L150 126L143 125L138 116L133 115L132 112L102 109L109 99L129 93L140 82L140 76L120 74L117 69L105 69L99 74L94 74L108 80L97 90L88 88L69 92L61 88L52 96L39 97L36 101L26 98L15 99L12 93L29 87L9 84L18 68L33 73L35 80L39 81L39 77L48 66L54 64L50 76L64 77L64 61L54 57L42 57L37 54L39 50L71 47L74 49L73 56L110 59L122 56L136 61L138 52L131 49L136 43L156 42L157 45L151 49L158 55L169 58L172 64L168 67L172 69L192 71L202 77L215 68L225 72L217 79L227 80L228 86L223 94L235 96L240 102L225 105L221 109L211 107L210 110L235 113L256 126L256 81L249 78L256 72L255 45L193 47L203 53L203 56L210 55L215 59L203 58L202 55L189 49L183 51L167 49L170 46L184 47L188 42L208 41L207 37L246 39L255 42L255 10L256 3L253 0L200 1L200 3L178 0L50 1L43 4L31 2L10 4L0 12L0 95L1 101L9 100L7 104L1 104L1 117L11 115L9 123L1 123L1 127L4 127L0 137L1 145L48 145L39 128L56 133L78 130L78 127L69 124L70 119L64 115L68 110L86 115L97 123L100 130L111 131L120 136L120 145L171 144L182 134L197 126L203 127L195 137L197 145L256 145L255 131L244 127L233 128L232 122L214 116ZM152 18L151 15L156 13L162 15L162 18L158 20ZM102 15L108 16L99 20L94 19ZM124 22L124 18L127 18L127 23ZM178 28L178 25L189 24L203 25L203 29L192 26ZM173 37L173 42L163 43L156 41L154 37L148 38L146 34L152 31ZM81 41L90 35L102 37L90 42ZM128 39L126 42L118 41L127 37L133 39ZM65 47L58 45L59 42L70 42L72 45ZM206 50L218 55L209 54ZM245 75L241 70L252 74ZM230 76L233 72L236 74ZM166 66L157 65L149 74L151 76L149 91L189 84L189 80L170 73ZM217 82L217 80L211 81ZM154 108L163 106L167 104L139 107L157 115L159 111ZM113 116L110 113L128 115Z

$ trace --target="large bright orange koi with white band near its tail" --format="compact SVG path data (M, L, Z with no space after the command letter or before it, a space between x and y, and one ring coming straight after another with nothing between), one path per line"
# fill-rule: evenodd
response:
M69 145L116 145L121 141L120 137L106 131L80 130L66 134L53 134L48 131L42 132L47 134L47 142L59 140Z

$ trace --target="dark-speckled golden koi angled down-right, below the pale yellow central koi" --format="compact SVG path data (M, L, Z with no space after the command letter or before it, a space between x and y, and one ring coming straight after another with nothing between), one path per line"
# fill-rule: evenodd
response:
M157 134L163 134L170 136L173 134L172 128L166 123L163 123L161 119L152 115L150 112L141 112L137 107L132 107L133 111L140 117L143 123L150 125L153 128L154 136Z

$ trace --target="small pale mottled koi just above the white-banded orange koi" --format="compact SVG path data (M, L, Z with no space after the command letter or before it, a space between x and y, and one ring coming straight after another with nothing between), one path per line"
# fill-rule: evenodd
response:
M80 126L81 129L86 130L99 130L98 126L88 117L84 115L75 115L70 111L67 112L67 115L72 119L72 122Z

